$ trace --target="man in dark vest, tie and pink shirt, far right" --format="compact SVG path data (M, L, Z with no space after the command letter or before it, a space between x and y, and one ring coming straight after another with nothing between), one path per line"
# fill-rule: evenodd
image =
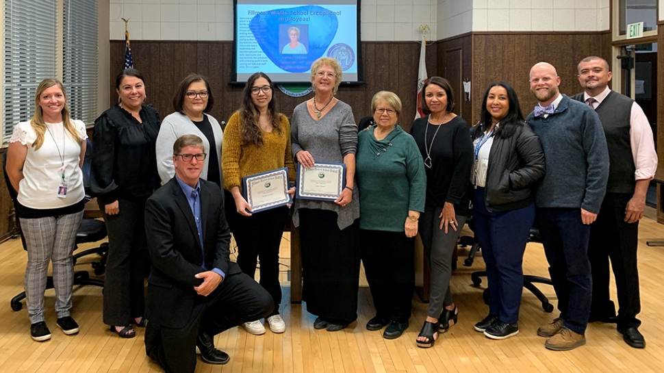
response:
M646 114L633 99L609 88L609 63L586 57L578 63L584 92L572 99L587 103L600 116L609 147L609 183L600 214L590 228L588 257L593 279L590 322L616 322L624 341L646 347L639 333L641 311L637 246L639 220L646 206L648 183L657 169L657 153ZM618 314L609 296L609 259L615 276Z

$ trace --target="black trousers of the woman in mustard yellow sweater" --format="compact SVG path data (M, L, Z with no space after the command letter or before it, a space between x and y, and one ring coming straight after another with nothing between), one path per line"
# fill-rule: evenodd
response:
M274 300L274 309L268 316L279 314L281 284L279 283L279 246L283 227L288 218L288 207L259 211L242 216L235 210L233 195L225 191L226 219L235 242L238 242L238 265L252 279L260 260L261 286Z

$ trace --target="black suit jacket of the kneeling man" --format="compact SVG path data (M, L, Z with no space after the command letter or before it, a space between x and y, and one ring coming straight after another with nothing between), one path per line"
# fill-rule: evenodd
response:
M240 273L229 260L231 233L224 214L223 194L215 183L201 179L203 246L194 215L175 177L148 198L145 232L152 267L148 277L146 318L168 328L182 328L196 303L205 302L194 286L203 281L194 275L219 268L226 276ZM220 283L222 286L224 283Z

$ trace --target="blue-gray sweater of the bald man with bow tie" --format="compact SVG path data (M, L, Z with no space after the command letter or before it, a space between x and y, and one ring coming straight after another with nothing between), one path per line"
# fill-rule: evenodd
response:
M609 180L609 149L597 113L563 94L553 114L531 113L526 123L539 137L546 162L537 207L580 207L597 214Z

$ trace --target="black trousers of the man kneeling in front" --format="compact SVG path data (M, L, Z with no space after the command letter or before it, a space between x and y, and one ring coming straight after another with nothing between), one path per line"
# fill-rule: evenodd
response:
M244 273L231 274L212 294L199 296L183 328L167 328L150 321L145 330L145 353L166 372L194 372L199 329L214 337L244 322L264 318L272 309L272 296L256 281Z

